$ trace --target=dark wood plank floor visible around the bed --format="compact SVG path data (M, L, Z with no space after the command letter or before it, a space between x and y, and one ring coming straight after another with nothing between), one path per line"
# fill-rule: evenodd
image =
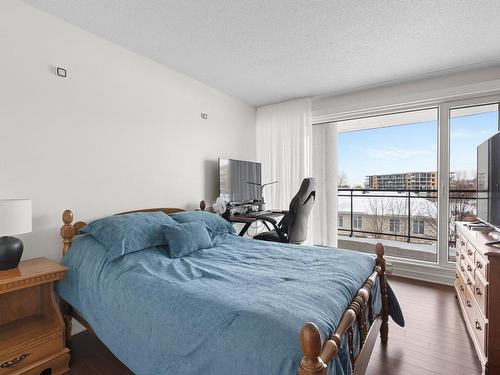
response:
M377 341L367 374L481 374L453 288L394 277L390 283L403 309L406 327L389 323L389 343L383 347ZM132 374L87 332L73 337L71 349L74 375Z

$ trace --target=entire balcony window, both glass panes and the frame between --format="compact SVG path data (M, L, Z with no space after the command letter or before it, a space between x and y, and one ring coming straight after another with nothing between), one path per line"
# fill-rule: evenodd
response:
M323 217L338 218L341 248L373 252L382 242L388 256L452 269L455 223L478 219L477 146L500 130L499 102L438 102L314 125L316 175L333 184L324 171L338 171L337 205L335 195L322 197L315 228L327 228L330 241L335 225Z

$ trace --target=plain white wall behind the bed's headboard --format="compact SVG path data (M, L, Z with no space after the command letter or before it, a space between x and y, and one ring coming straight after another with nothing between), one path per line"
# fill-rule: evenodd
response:
M60 258L67 208L88 220L213 202L219 156L255 159L254 107L2 0L0 198L33 200L23 259Z

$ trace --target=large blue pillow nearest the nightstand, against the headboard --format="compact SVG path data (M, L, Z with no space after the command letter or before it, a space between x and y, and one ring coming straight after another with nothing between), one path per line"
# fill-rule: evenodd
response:
M166 245L161 229L164 224L176 222L161 211L134 212L95 220L80 232L102 243L109 251L108 259L114 260L148 247Z

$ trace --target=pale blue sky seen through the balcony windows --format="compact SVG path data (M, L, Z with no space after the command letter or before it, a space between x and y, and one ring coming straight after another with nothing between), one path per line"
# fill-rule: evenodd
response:
M476 147L497 129L497 112L452 118L450 171L474 177ZM437 171L437 121L341 132L338 158L351 186L363 185L368 175Z

